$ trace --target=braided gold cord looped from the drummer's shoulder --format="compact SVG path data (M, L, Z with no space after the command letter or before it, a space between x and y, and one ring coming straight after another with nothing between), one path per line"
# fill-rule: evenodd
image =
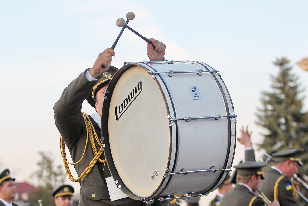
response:
M95 139L96 141L99 143L99 146L100 149L99 151L97 152L97 149L96 149L96 146L95 146L95 140L94 140L94 137L93 137L93 132L92 131L95 131L94 129L94 126L92 124L92 122L90 121L89 117L87 116L86 113L82 112L83 114L83 119L84 119L84 122L85 122L85 125L87 127L87 139L86 139L86 145L85 145L85 148L84 148L84 151L83 151L83 155L82 157L80 158L79 161L75 162L75 163L69 163L67 162L67 157L66 157L66 152L65 152L65 143L64 143L64 139L62 138L62 136L60 136L60 152L61 152L61 156L62 156L62 159L63 159L63 163L64 163L64 168L65 168L65 171L66 171L66 174L67 174L67 177L72 181L72 182L79 182L81 181L84 177L87 176L87 174L91 171L91 169L93 168L93 166L95 165L95 163L97 161L99 161L100 163L105 163L105 160L101 160L99 157L103 154L104 152L104 149L103 149L103 145L99 142L99 139L97 137L97 134L95 132ZM71 174L71 171L68 167L68 164L70 165L75 165L77 163L79 163L83 157L84 157L84 154L86 152L86 148L87 148L87 143L88 143L88 138L90 137L90 142L91 142L91 146L92 146L92 150L93 150L93 154L94 154L94 158L92 159L92 161L90 162L90 164L87 166L87 168L83 171L83 173L77 178L75 179L72 174Z

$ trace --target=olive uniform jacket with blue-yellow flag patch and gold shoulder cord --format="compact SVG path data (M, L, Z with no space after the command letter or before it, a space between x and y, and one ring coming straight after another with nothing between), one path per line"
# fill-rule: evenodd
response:
M261 180L258 188L270 201L274 200L274 185L282 175L276 169L272 168L263 175L264 180ZM278 183L278 201L280 206L299 206L293 194L291 180L286 175Z

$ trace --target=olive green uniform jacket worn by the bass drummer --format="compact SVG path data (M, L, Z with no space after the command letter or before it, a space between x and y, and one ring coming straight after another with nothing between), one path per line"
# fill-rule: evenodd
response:
M55 123L62 135L68 150L71 153L74 162L79 161L83 155L83 150L86 145L87 129L84 123L81 107L83 101L92 92L93 86L97 84L97 80L88 81L85 72L80 74L67 88L64 89L60 99L54 106ZM90 116L91 122L95 128L98 137L101 137L100 127ZM95 141L97 151L100 146ZM88 140L87 149L83 160L75 164L75 170L80 176L87 168L88 164L94 158L90 140ZM104 154L100 159L104 160ZM106 185L106 177L110 177L111 173L106 165L97 162L91 169L90 173L80 181L80 198L79 206L124 206L136 205L144 206L145 203L131 198L123 198L120 200L111 201ZM170 201L155 202L155 205L170 205Z

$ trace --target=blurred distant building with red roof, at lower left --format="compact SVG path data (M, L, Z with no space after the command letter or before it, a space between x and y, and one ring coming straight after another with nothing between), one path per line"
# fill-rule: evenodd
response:
M15 182L15 186L17 187L17 192L13 202L15 204L18 204L18 206L29 205L29 203L24 203L24 201L27 201L29 199L29 192L37 188L29 184L27 181L23 181L22 183Z

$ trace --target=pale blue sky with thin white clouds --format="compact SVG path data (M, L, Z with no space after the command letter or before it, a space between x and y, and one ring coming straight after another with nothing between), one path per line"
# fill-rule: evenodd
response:
M115 21L128 11L136 15L129 26L165 43L166 59L201 61L219 70L238 116L237 133L249 125L257 149L266 131L255 114L261 92L271 91L270 76L278 74L273 61L287 57L301 88L308 86L308 71L297 65L308 57L307 7L304 0L0 1L0 169L37 184L29 176L38 169L38 151L63 164L53 105L111 47L121 30ZM115 54L112 65L118 68L148 60L146 42L128 29ZM87 103L83 111L95 113ZM233 163L243 155L237 144Z

